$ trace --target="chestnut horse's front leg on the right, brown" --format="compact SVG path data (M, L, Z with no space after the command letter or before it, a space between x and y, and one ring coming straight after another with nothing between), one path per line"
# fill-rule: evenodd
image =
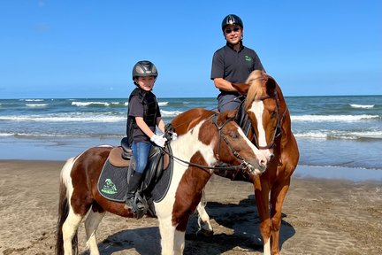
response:
M282 205L289 189L290 178L275 183L271 189L271 254L279 255L279 228Z

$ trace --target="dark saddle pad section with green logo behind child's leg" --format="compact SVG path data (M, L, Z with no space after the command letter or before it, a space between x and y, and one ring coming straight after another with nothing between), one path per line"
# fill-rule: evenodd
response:
M103 197L116 202L125 202L128 167L112 166L109 159L103 165L98 179L98 191Z

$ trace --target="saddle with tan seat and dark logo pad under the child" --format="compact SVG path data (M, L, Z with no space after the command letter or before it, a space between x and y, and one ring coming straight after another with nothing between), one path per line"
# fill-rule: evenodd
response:
M135 158L131 151L126 151L124 145L126 140L122 139L121 146L111 149L109 158L104 163L102 173L98 180L98 191L103 197L125 203L126 190L131 174L135 169ZM167 147L171 151L170 146ZM129 159L126 159L126 158ZM170 172L170 173L167 173ZM149 152L149 163L142 177L141 187L136 197L144 206L140 212L136 212L140 219L149 211L155 216L153 202L163 199L170 186L172 177L172 162L170 156L157 146L151 146Z

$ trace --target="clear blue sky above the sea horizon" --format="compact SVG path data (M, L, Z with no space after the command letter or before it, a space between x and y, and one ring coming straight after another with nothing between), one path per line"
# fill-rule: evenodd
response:
M4 0L0 98L128 97L141 59L157 97L216 97L230 13L285 96L382 95L382 1Z

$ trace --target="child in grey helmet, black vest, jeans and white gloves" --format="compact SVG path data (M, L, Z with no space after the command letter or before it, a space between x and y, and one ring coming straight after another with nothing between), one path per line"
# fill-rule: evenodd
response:
M151 92L157 80L157 67L150 61L139 61L133 68L133 81L138 87L130 94L127 113L127 140L136 160L126 194L126 207L132 209L141 177L148 164L151 142L164 147L166 138L156 135L156 126L164 133L164 121L159 112L157 97ZM140 208L140 205L137 205ZM140 208L141 209L141 208Z

